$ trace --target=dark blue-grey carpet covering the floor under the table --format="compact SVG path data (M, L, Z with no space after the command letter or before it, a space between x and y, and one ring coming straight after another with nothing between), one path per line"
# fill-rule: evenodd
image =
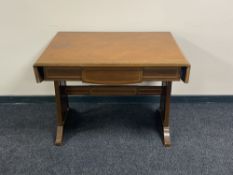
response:
M157 103L71 107L57 147L54 104L0 104L0 174L233 174L232 103L172 104L169 149Z

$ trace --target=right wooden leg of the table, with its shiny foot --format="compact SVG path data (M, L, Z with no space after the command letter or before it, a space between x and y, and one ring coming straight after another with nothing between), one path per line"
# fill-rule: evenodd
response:
M172 82L162 82L162 93L160 96L160 114L162 117L163 142L165 147L171 146L169 127L171 86Z

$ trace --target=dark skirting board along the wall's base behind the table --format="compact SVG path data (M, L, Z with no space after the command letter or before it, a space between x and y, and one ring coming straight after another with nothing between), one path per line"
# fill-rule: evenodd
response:
M159 96L70 96L72 103L158 103ZM0 103L54 103L54 96L0 96ZM233 103L233 95L171 97L172 103Z

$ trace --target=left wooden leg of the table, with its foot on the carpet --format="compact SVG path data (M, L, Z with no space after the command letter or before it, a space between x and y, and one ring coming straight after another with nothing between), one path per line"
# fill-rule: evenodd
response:
M65 119L69 111L68 97L64 92L65 87L66 87L65 81L54 81L56 109L57 109L57 115L56 115L57 132L56 132L55 145L62 145Z

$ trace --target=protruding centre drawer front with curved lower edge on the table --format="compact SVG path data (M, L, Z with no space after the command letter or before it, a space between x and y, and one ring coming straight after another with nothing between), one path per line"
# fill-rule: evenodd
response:
M142 82L140 69L85 69L82 71L82 81L96 84L129 84Z

